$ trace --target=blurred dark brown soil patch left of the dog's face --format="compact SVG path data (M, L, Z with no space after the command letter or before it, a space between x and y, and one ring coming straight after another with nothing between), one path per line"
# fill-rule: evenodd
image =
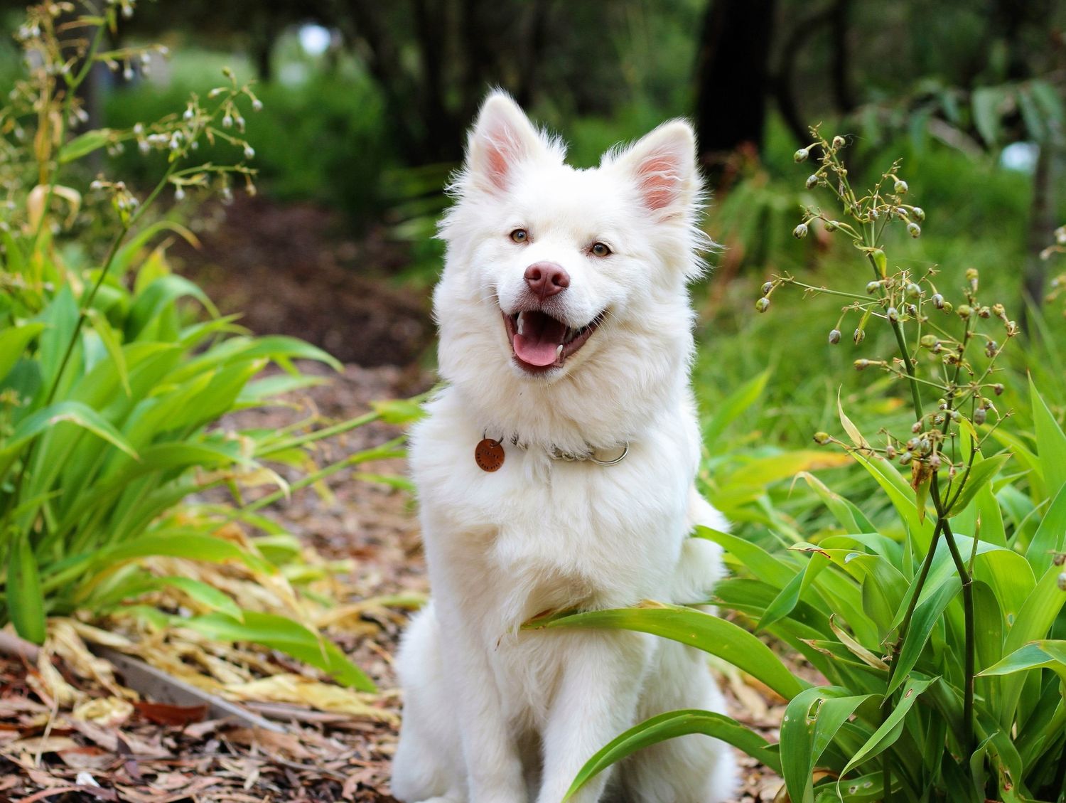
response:
M293 335L365 367L408 366L430 348L429 293L394 279L406 247L384 231L356 240L321 207L243 194L207 206L196 228L200 247L180 242L171 256L253 332Z

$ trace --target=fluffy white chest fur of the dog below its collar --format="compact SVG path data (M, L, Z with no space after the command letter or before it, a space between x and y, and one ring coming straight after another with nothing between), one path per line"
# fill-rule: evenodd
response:
M429 413L411 465L432 523L431 579L435 590L454 585L486 638L545 610L666 598L697 459L680 411L617 465L553 461L543 448L505 441L495 472L474 462L483 430L457 391L446 390Z

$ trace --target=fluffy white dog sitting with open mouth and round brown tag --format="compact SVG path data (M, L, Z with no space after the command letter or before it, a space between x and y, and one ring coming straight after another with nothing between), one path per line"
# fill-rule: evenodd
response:
M449 386L415 430L433 603L398 658L403 801L560 803L626 728L723 710L706 656L617 630L520 631L549 610L706 599L725 523L695 492L689 387L700 184L683 122L595 170L503 93L482 107L441 225L434 295ZM728 748L641 751L574 798L711 803ZM604 791L607 790L607 791Z

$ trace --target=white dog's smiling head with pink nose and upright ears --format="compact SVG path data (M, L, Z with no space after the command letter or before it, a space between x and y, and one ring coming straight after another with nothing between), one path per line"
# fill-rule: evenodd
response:
M564 150L500 92L470 131L435 314L441 372L475 394L639 392L685 374L685 283L706 239L691 127L666 123L592 170Z

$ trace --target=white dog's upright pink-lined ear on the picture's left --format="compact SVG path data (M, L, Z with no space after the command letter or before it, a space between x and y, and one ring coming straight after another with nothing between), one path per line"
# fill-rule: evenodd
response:
M466 179L488 192L506 190L515 167L544 156L548 145L505 92L491 93L467 140Z

